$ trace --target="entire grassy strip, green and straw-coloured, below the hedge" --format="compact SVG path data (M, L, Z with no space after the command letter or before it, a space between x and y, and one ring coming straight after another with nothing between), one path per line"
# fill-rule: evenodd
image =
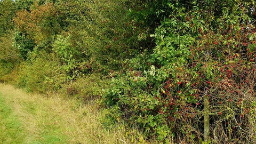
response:
M125 131L103 129L103 115L93 105L0 84L0 143L123 143Z

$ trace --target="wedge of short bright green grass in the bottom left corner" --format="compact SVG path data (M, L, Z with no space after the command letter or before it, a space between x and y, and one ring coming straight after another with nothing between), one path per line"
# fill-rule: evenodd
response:
M19 118L0 93L0 143L23 143L25 137Z

